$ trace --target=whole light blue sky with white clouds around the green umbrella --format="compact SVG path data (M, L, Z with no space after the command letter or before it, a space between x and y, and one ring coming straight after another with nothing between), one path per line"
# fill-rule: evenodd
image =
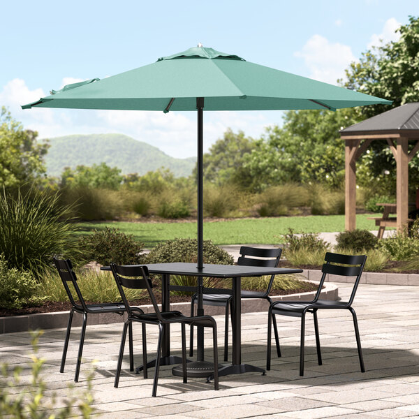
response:
M380 39L419 15L417 0L6 1L0 105L39 138L124 133L170 156L196 155L195 112L21 110L50 89L105 78L198 42L247 61L336 84ZM205 112L205 149L226 128L258 137L281 112Z

